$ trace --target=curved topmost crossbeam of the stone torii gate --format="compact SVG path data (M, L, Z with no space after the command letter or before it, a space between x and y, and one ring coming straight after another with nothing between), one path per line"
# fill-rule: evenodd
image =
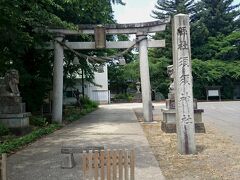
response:
M105 24L106 34L136 34L138 32L154 33L164 31L170 18L165 21L151 21L131 24ZM78 30L67 30L60 28L50 28L49 32L64 35L94 34L94 28L98 25L82 24L78 25Z

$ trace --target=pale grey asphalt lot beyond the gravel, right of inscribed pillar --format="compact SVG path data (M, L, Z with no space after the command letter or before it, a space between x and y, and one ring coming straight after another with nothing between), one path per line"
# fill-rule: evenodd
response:
M204 109L203 121L240 143L240 101L200 102Z

